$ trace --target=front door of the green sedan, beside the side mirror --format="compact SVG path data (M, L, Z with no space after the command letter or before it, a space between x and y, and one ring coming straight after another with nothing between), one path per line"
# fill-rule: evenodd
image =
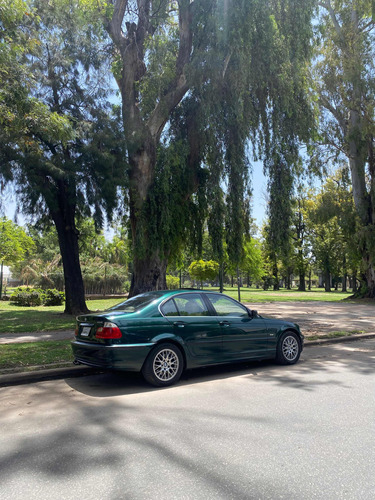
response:
M262 318L253 318L248 309L226 295L206 293L223 334L225 360L261 357L267 351L268 332Z

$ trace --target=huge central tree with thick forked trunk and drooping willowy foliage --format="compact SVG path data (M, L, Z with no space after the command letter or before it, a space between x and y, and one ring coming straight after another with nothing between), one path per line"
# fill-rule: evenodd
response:
M228 252L240 261L248 196L247 141L253 139L264 150L273 139L287 141L296 137L297 127L308 128L301 81L313 4L310 0L114 0L111 9L103 5L105 26L114 43L114 74L122 97L129 161L134 255L130 295L165 287L176 231L171 230L171 239L163 234L160 244L155 228L171 228L174 215L175 226L182 226L180 237L186 238L175 210L180 214L185 207L190 219L195 210L197 219L197 213L208 207L207 194L217 193L223 182L226 226L231 231ZM165 147L176 148L174 120L180 125L181 147L174 166L167 167L167 177L158 170L158 156L163 138ZM220 158L215 164L214 149ZM161 178L164 186L166 181L176 185L174 167L183 181L177 183L177 206L169 204L171 198L159 196Z

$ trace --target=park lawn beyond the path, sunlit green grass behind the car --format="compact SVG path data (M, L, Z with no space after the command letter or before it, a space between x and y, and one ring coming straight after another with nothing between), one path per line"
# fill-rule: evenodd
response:
M209 290L218 290L209 288ZM237 288L227 287L224 293L237 299ZM261 302L291 302L291 301L327 301L338 302L350 293L326 293L322 289L310 292L297 290L260 290L255 288L241 288L241 301L249 304ZM121 299L88 300L87 306L91 311L102 311L121 302ZM63 313L64 306L55 307L18 307L9 302L0 301L0 333L43 332L49 330L74 330L75 318Z

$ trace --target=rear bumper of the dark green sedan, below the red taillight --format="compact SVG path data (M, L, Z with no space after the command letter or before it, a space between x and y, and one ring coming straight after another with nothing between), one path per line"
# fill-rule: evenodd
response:
M75 340L75 360L88 366L139 372L155 344L100 345Z

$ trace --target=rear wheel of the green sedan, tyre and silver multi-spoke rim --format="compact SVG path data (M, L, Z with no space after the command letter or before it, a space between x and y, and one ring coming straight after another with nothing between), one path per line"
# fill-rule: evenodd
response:
M156 387L166 387L180 380L184 369L181 350L174 344L165 343L156 346L146 359L142 375Z

